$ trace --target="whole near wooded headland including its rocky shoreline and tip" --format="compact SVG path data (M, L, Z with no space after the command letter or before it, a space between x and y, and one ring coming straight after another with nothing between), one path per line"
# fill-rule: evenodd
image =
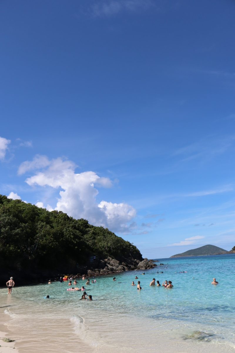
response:
M0 285L10 276L19 285L155 266L108 228L0 195Z

